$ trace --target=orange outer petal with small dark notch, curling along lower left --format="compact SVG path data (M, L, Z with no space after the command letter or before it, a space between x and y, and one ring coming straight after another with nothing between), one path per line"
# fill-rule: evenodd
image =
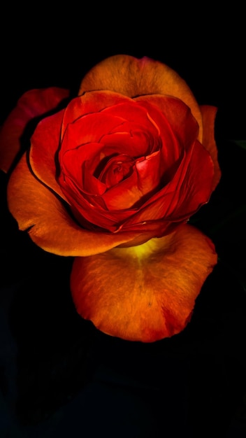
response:
M10 176L8 207L20 229L28 230L38 246L58 255L93 255L138 237L150 239L147 233L90 232L77 225L59 197L31 173L26 154Z

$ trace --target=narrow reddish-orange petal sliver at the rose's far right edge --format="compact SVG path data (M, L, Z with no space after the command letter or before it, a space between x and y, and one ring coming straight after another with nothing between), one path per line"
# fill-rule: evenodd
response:
M214 163L215 176L212 183L212 190L215 189L219 183L221 171L217 159L217 146L215 143L215 116L217 108L215 106L201 105L201 115L203 118L203 146L208 150Z

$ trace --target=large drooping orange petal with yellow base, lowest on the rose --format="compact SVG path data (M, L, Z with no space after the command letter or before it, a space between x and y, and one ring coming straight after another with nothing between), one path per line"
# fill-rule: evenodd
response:
M191 225L141 246L77 257L71 291L78 313L99 330L152 342L179 333L217 262L213 243Z

